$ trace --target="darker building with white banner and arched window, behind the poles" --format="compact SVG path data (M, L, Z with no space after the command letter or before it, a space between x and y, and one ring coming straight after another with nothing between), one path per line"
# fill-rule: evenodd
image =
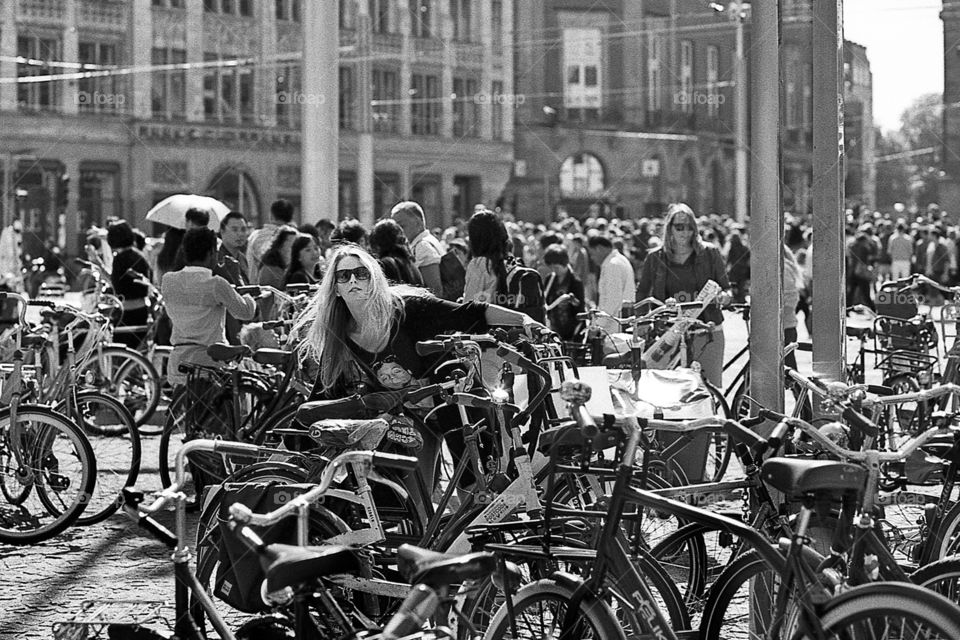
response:
M708 4L517 4L520 104L508 208L525 219L550 220L558 211L640 217L685 201L699 213L733 215L737 31L749 52L751 24L748 11ZM785 0L781 8L783 200L788 210L807 212L812 9L809 0ZM873 140L859 133L872 131L869 61L862 47L852 48L857 73L845 89L845 113L848 135L864 142L848 169L863 177L848 186L857 201L872 204ZM747 63L749 79L749 54Z

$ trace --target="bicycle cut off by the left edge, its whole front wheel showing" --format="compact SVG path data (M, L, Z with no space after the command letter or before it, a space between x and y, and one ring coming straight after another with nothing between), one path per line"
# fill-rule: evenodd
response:
M16 300L20 327L26 324L24 296L0 292L0 303ZM45 405L22 402L28 370L22 331L0 392L0 542L33 544L49 539L83 513L94 490L96 459L83 431Z

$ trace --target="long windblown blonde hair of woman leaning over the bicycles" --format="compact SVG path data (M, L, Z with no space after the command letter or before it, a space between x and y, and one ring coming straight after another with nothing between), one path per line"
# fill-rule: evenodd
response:
M350 314L347 303L337 292L337 266L347 256L353 256L370 271L370 297L362 323ZM319 362L322 390L329 391L353 370L355 358L347 346L347 335L352 328L359 327L361 336L366 337L381 333L385 327L390 332L394 321L403 315L403 296L421 293L413 287L391 287L377 261L359 245L337 246L327 263L320 289L297 317L292 330L302 338L301 362L308 358Z

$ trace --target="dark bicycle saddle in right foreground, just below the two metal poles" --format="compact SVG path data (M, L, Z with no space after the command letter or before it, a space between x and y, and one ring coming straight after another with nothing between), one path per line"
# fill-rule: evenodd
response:
M820 491L859 491L867 479L867 470L834 460L770 458L760 468L760 477L777 491L797 497Z

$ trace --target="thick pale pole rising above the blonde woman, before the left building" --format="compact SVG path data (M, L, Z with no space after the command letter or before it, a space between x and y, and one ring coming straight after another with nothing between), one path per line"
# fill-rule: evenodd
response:
M336 218L339 181L339 6L304 2L301 216ZM331 215L333 214L333 215Z

